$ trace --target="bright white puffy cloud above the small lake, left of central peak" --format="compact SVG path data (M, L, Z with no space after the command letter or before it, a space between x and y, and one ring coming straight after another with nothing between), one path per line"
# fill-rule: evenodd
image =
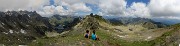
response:
M39 14L44 16L52 16L53 14L74 15L76 12L92 11L81 0L55 0L55 5L47 6L51 8L45 8Z

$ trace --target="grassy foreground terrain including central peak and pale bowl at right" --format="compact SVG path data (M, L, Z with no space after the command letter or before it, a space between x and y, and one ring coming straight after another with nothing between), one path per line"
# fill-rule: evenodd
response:
M178 26L176 26L178 27ZM73 29L56 37L40 38L30 43L34 46L166 46L178 45L179 34L176 27L148 29L141 25L118 25L106 21L101 16L87 15ZM100 41L84 38L86 30L96 31ZM175 31L175 32L174 32ZM172 33L174 32L174 33ZM170 33L170 34L169 34ZM172 37L169 37L168 35ZM175 40L172 38L175 38ZM168 40L169 37L171 40ZM173 41L173 42L170 42ZM163 44L162 44L163 43Z

